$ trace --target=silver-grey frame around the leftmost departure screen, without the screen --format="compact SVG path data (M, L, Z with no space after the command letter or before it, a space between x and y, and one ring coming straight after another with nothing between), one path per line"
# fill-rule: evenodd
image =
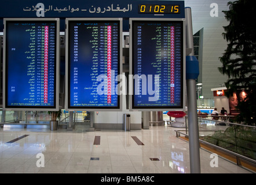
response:
M8 105L8 24L9 23L54 23L56 25L54 42L54 105L53 106L26 106ZM60 18L3 18L3 109L4 110L31 110L57 111L59 110L59 79L60 79ZM18 76L19 77L19 76Z

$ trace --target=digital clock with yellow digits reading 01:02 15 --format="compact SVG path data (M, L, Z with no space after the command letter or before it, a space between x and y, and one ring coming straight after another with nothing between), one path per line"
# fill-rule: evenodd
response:
M138 13L180 13L180 5L138 5Z

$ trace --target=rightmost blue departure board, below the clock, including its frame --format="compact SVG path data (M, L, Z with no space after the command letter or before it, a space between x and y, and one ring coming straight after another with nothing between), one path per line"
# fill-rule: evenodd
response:
M184 21L130 19L131 109L184 109Z

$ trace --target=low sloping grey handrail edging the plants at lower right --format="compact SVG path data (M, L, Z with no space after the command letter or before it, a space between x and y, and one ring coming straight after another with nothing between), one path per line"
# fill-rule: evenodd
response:
M183 135L189 137L188 134L184 134L184 133L182 133L181 131L184 131L184 130L175 130L175 132L176 132L176 137L177 137L177 138L180 137L180 134L183 134ZM235 152L233 152L233 151L224 149L224 148L222 148L222 147L220 147L220 146L213 145L213 144L211 144L211 143L209 143L209 142L206 142L206 141L204 141L204 140L202 140L202 139L199 139L199 142L200 142L200 143L203 143L203 144L206 144L206 145L209 145L209 146L211 146L211 147L214 147L215 149L219 149L219 150L225 151L226 153L232 154L233 156L236 156L236 164L237 164L237 165L242 165L242 164L241 164L241 161L240 161L240 158L243 158L244 160L249 161L249 162L251 162L251 163L253 163L253 164L256 165L256 161L253 160L253 159L251 159L251 158L248 158L248 157L246 157L246 156L242 156L241 154L237 154L237 153L235 153Z

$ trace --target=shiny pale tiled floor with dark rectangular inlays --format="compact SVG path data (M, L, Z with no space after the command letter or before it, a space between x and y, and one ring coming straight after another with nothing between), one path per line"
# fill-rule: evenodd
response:
M0 173L190 173L188 142L175 129L0 128ZM251 173L221 157L211 167L210 155L200 149L202 173Z

